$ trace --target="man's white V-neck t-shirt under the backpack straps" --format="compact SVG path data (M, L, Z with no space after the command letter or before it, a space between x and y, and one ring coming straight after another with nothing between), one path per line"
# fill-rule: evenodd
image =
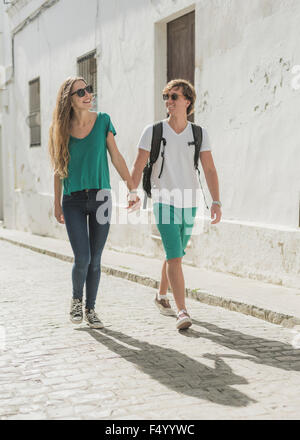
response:
M138 148L151 151L152 133L153 125L148 125L142 133ZM203 196L197 170L194 167L195 145L189 145L189 142L194 141L191 123L188 122L186 128L177 134L165 119L163 120L163 137L167 141L164 168L159 178L163 149L163 143L161 143L160 153L151 174L153 203L164 203L177 208L199 206ZM207 131L203 128L202 138L200 151L211 151Z

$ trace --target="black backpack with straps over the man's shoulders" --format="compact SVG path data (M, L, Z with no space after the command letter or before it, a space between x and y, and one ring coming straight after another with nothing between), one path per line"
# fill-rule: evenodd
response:
M202 193L203 193L204 200L205 200L205 195L204 195L201 180L200 180L200 170L198 167L199 154L200 154L200 149L201 149L201 145L202 145L202 128L200 127L200 125L196 125L193 123L191 123L191 125L192 125L192 130L193 130L194 141L189 142L188 145L195 145L194 168L198 172L198 178L199 178L199 182L200 182ZM143 189L144 189L145 193L147 194L147 196L150 198L151 198L152 168L158 159L160 147L161 147L161 142L163 143L163 148L161 151L162 164L161 164L161 169L160 169L160 173L158 176L159 179L160 179L160 176L161 176L163 168L164 168L165 147L166 147L167 141L163 137L162 132L163 132L163 123L161 121L157 122L156 124L153 125L153 134L152 134L152 141L151 141L150 156L149 156L148 163L145 166L144 171L143 171ZM146 201L146 199L145 199L145 201ZM206 200L205 200L205 203L206 203ZM144 205L145 205L145 203L144 203ZM206 207L207 207L207 209L209 209L207 206L207 203L206 203Z

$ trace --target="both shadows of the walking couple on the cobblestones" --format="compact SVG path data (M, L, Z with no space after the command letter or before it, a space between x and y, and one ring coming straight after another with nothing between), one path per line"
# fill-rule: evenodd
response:
M203 357L215 361L214 367L208 367L178 350L150 344L109 328L101 331L80 328L78 331L88 332L96 341L167 388L225 406L245 407L256 401L233 388L233 385L248 384L248 381L235 374L222 358L245 359L286 371L300 371L300 350L294 349L291 344L249 336L195 319L193 324L208 332L200 332L193 327L180 332L181 335L208 339L242 355L205 354Z

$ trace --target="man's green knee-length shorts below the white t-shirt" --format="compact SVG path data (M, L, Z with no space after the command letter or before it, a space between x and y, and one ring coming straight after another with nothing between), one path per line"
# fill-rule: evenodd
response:
M185 255L185 248L192 235L197 208L176 208L155 203L153 213L165 248L167 260Z

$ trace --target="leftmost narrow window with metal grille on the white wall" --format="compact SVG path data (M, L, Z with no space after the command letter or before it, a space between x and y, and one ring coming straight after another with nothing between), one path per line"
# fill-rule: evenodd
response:
M29 116L27 123L30 128L30 146L41 145L41 104L40 104L40 78L29 82Z

